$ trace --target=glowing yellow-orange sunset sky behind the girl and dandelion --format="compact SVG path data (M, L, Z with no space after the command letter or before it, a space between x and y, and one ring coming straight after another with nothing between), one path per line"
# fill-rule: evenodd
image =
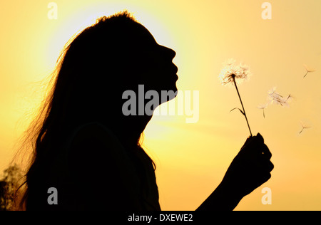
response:
M197 122L187 123L192 115L184 109L183 115L154 115L144 132L161 208L196 209L250 135L243 115L230 112L241 107L235 88L218 79L222 63L235 58L250 66L240 95L253 135L263 135L275 164L272 178L235 210L321 210L321 1L267 1L272 19L262 17L263 0L59 0L52 1L56 19L48 15L50 2L0 2L0 171L14 156L65 43L98 17L127 9L176 52L183 95L175 100L199 93L191 104L198 106ZM305 78L304 64L315 70ZM287 107L268 105L263 117L258 106L274 87L294 98ZM310 128L300 133L301 122ZM270 205L261 202L263 187L272 191Z

